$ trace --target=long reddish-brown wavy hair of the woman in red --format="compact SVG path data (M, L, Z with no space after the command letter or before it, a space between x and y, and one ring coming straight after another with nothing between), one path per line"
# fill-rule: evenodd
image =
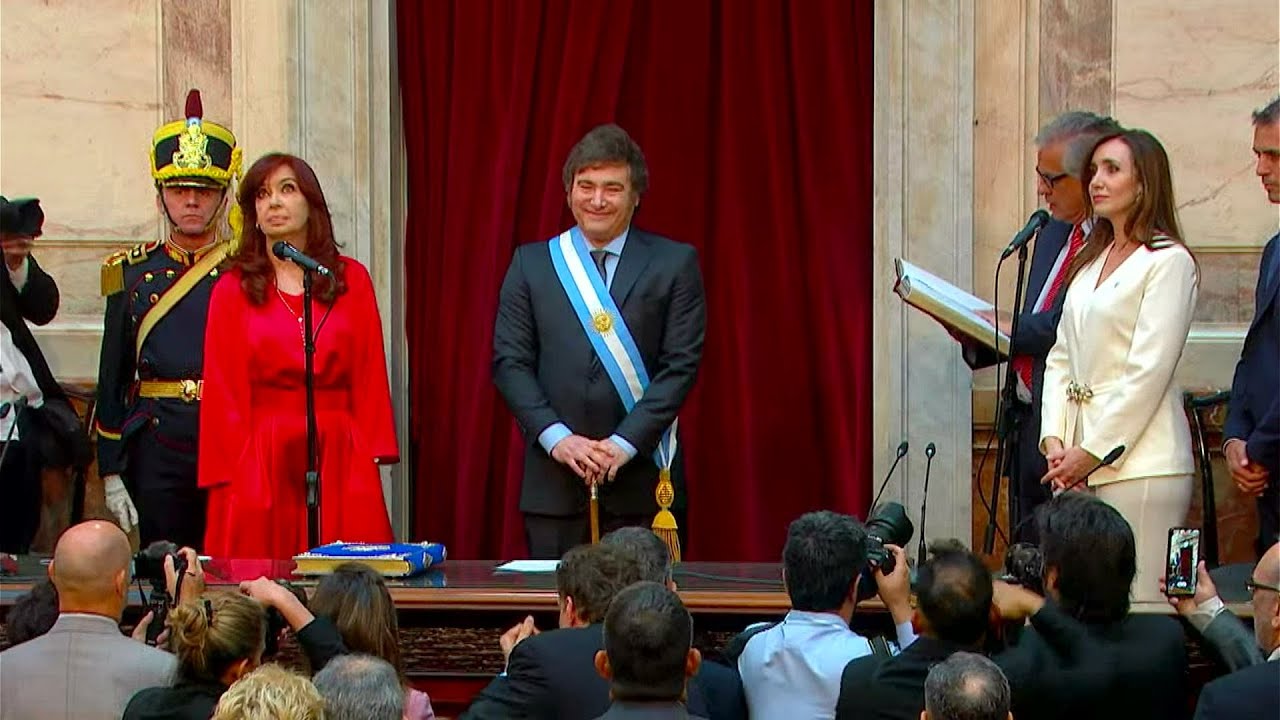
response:
M241 290L253 305L266 302L266 287L275 279L275 270L271 268L270 250L266 236L257 227L257 191L266 183L268 176L276 168L288 165L298 178L298 188L307 199L310 214L307 215L307 246L300 247L312 256L321 265L333 270L333 278L320 275L315 278L315 297L325 304L332 304L339 295L347 292L347 282L343 278L344 266L338 259L338 242L333 237L333 219L329 217L329 204L324 199L324 190L315 170L302 158L285 155L284 152L271 152L262 155L244 173L244 179L239 184L239 206L244 215L244 232L241 236L241 246L232 260L232 266L241 273Z

